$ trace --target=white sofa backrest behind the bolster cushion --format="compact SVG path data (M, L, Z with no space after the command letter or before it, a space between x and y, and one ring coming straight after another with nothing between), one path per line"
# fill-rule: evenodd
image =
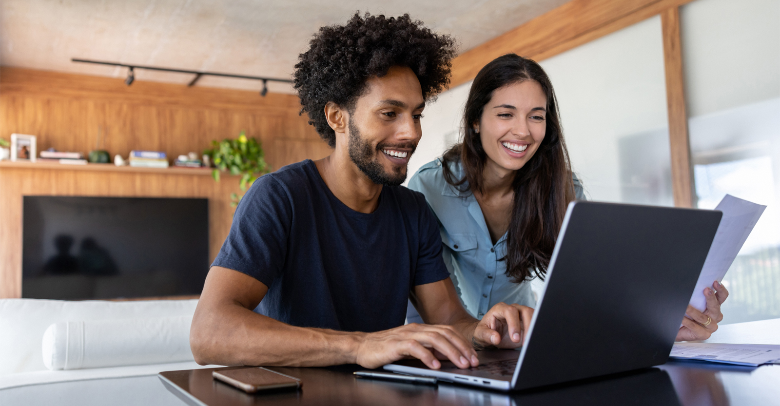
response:
M46 369L41 354L44 331L53 323L192 316L197 299L71 302L0 299L0 375Z

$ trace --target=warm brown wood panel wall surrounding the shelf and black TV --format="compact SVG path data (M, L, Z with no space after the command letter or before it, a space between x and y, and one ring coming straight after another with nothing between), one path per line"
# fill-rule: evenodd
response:
M37 136L38 150L101 149L126 157L130 150L162 150L169 157L196 151L212 139L239 132L261 141L273 169L330 149L299 116L296 96L186 87L29 69L0 68L0 137ZM64 165L63 165L64 166ZM22 196L206 197L210 258L228 234L235 177L165 172L83 171L68 168L0 168L0 298L21 296Z

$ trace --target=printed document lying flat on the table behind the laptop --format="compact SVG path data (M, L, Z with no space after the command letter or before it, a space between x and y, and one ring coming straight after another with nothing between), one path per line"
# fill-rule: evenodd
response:
M750 366L780 364L780 345L675 343L669 358Z

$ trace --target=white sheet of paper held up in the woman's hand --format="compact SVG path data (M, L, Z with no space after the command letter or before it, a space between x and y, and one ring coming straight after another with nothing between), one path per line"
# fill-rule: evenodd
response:
M704 267L701 268L699 280L690 298L690 305L704 312L707 308L704 298L704 288L711 287L714 281L722 281L736 258L736 254L742 249L747 236L758 222L758 218L764 213L766 206L726 195L715 210L721 210L723 217L715 238L710 245L707 259L704 259Z

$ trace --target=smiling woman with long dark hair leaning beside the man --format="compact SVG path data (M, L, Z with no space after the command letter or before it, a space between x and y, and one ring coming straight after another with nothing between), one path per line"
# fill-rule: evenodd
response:
M536 307L530 280L544 279L566 207L584 199L547 74L514 54L488 63L471 86L463 129L463 143L420 168L409 187L438 217L445 263L472 316L498 302ZM727 295L717 282L707 288L707 310L689 306L678 340L709 337ZM412 305L407 319L422 323Z

